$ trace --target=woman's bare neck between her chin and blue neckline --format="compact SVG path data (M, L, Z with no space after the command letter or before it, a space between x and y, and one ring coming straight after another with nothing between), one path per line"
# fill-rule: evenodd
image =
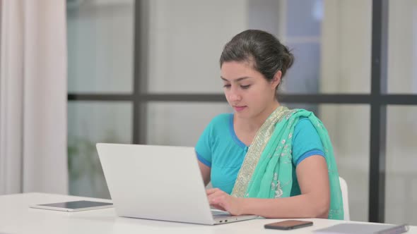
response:
M280 106L279 102L274 101L273 104L266 107L264 111L253 118L236 118L235 116L235 126L246 133L256 133L259 128L261 128L262 124L264 124L266 118L268 118L271 113L278 108L278 106Z

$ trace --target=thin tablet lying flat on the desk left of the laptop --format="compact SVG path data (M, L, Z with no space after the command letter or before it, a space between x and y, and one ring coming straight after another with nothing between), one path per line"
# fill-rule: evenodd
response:
M30 208L36 209L52 209L54 211L86 211L90 209L103 209L113 207L112 203L107 202L92 202L92 201L74 201L74 202L59 202L49 204L35 204L31 205Z

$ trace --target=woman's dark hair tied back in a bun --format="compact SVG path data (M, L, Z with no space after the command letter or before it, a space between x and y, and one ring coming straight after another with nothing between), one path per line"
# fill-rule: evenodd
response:
M294 56L270 33L246 30L225 44L220 56L220 67L228 61L252 62L254 69L271 81L278 70L281 70L282 80L288 68L293 65Z

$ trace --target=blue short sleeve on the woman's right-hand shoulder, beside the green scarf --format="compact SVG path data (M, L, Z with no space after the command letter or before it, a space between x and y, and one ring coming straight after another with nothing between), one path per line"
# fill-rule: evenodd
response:
M293 133L293 164L298 166L309 156L324 156L322 140L309 118L300 118Z

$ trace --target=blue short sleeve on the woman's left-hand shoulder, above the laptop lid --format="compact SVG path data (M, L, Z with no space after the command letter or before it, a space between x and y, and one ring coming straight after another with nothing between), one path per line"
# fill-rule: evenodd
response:
M213 121L207 125L196 144L196 154L202 164L211 167L211 133Z

